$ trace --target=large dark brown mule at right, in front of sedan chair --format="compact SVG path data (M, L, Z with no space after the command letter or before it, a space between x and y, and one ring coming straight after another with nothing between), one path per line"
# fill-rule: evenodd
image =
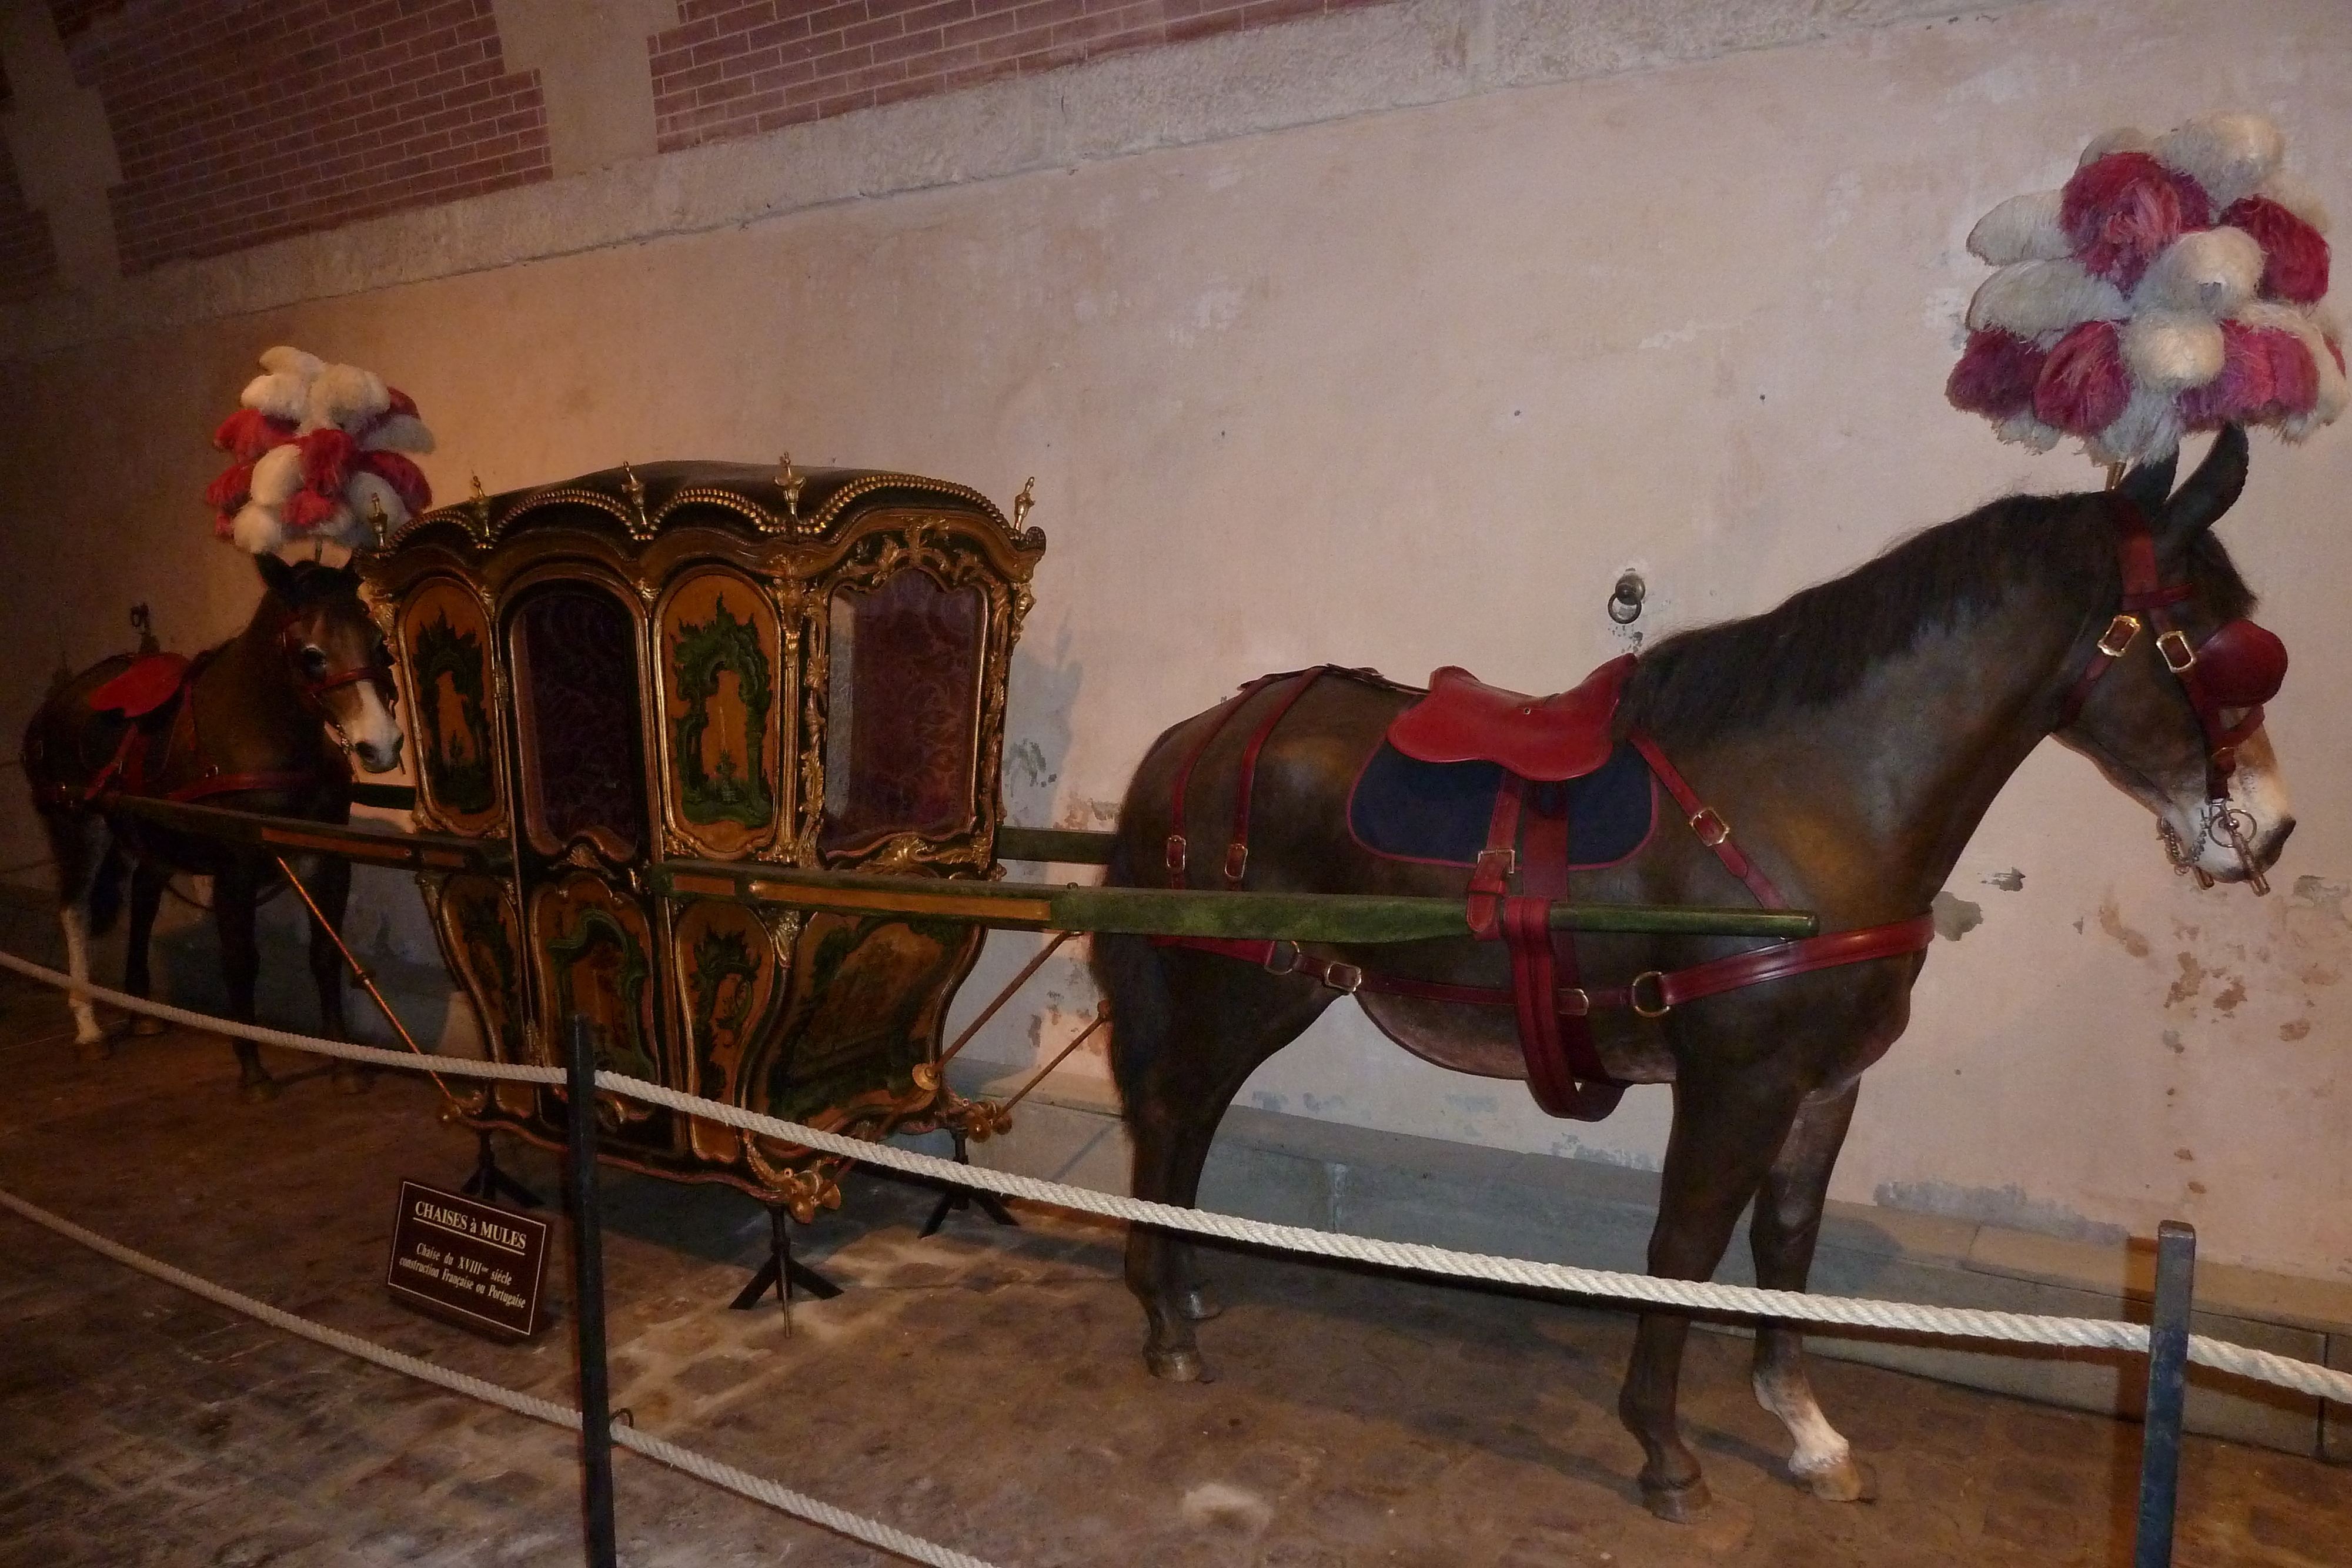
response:
M2244 475L2246 440L2225 430L2171 496L2173 470L2164 463L2136 470L2119 494L1997 501L1764 616L1661 642L1642 656L1616 731L1639 726L1656 736L1788 903L1820 914L1823 931L1926 910L1992 797L2049 733L2152 806L2178 844L2194 846L2176 856L2185 870L2194 860L2194 870L2216 879L2246 879L2251 865L2277 858L2293 825L2270 748L2258 731L2241 741L2234 776L2218 785L2232 811L2213 827L2216 809L2206 802L2213 745L2185 696L2190 677L2166 668L2154 635L2122 646L2117 621L2124 503L2150 522L2154 567L2180 595L2145 614L2157 621L2152 630L2171 621L2194 649L2246 614L2251 595L2206 531L2237 498ZM2258 628L2253 635L2267 637ZM2105 658L2100 639L2122 656ZM2084 686L2093 665L2105 675ZM1279 698L1261 691L1251 701ZM1249 889L1465 891L1461 870L1374 858L1350 837L1350 780L1411 701L1345 677L1324 677L1296 701L1258 759ZM1160 736L1120 811L1112 882L1167 884L1171 785L1195 752L1188 820L1211 849L1195 860L1221 858L1256 712L1237 715L1204 750L1214 715ZM2234 724L2241 715L2220 717ZM2244 858L2227 844L2230 830L2244 837ZM1214 882L1214 870L1197 882ZM1750 903L1724 863L1675 820L1672 806L1661 811L1646 849L1616 867L1578 872L1571 891L1590 903ZM1588 936L1576 950L1585 985L1623 987L1644 971L1675 971L1755 945ZM1510 985L1501 943L1470 938L1308 945L1305 957L1402 980ZM1905 952L1788 976L1686 1001L1663 1018L1628 1009L1592 1018L1613 1077L1675 1086L1651 1274L1708 1279L1740 1213L1755 1204L1759 1284L1804 1288L1856 1081L1903 1032L1919 961ZM1096 969L1117 1020L1112 1067L1134 1138L1134 1192L1192 1204L1225 1105L1338 992L1301 973L1268 973L1228 954L1136 936L1096 938ZM1357 999L1381 1030L1435 1063L1526 1077L1510 1006L1371 990ZM1127 1281L1150 1319L1150 1371L1197 1378L1192 1321L1209 1316L1209 1307L1190 1248L1164 1232L1134 1229ZM1698 1460L1675 1427L1686 1331L1684 1316L1642 1316L1618 1406L1646 1453L1642 1495L1668 1519L1689 1516L1708 1497ZM1759 1333L1755 1389L1788 1422L1790 1469L1799 1481L1825 1497L1867 1495L1867 1472L1813 1403L1795 1328Z

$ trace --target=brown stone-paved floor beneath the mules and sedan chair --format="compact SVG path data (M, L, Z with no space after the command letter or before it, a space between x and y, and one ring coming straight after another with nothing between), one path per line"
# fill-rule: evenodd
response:
M402 1178L470 1140L421 1079L336 1095L306 1058L240 1105L223 1044L80 1065L54 997L0 978L0 1187L249 1295L572 1401L564 1321L496 1347L383 1293ZM553 1192L539 1152L510 1159ZM2131 1559L2138 1432L1816 1363L1882 1479L1828 1505L1778 1474L1743 1345L1696 1335L1684 1413L1715 1509L1642 1512L1613 1418L1628 1319L1508 1293L1211 1260L1214 1382L1152 1382L1112 1227L1025 1208L917 1239L931 1194L854 1180L804 1255L849 1286L727 1312L764 1218L609 1175L614 1396L635 1422L1007 1568L1581 1568ZM292 1340L0 1213L0 1566L576 1563L572 1436ZM2352 1561L2352 1469L2190 1439L2178 1563ZM635 1568L877 1563L635 1455Z

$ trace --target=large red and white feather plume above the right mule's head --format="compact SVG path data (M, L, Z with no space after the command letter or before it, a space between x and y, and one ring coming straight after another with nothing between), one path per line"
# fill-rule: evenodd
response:
M2190 430L2272 425L2300 442L2345 388L2328 216L2279 165L2263 115L2107 132L2058 190L1969 230L1999 270L1969 301L1945 395L2004 442L2082 437L2100 463L2161 458Z

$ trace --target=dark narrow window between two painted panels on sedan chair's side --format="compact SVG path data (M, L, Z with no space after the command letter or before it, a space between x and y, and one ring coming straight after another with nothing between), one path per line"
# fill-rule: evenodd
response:
M555 856L588 837L626 860L644 837L635 625L612 595L550 588L515 611L524 823Z

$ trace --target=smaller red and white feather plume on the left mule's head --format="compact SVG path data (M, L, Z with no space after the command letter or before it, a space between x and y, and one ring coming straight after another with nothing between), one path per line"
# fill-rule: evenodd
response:
M273 348L238 402L212 437L230 463L205 491L216 538L254 555L318 538L365 550L379 510L397 529L433 505L407 458L433 451L433 433L383 376Z

